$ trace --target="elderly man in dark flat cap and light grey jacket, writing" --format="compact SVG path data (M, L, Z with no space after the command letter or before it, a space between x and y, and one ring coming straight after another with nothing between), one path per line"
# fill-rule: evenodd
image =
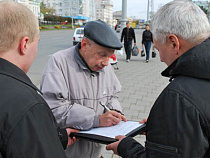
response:
M126 118L120 114L121 84L109 57L122 44L103 21L88 22L81 43L52 55L43 73L41 91L58 124L88 130L116 125ZM100 102L113 111L106 111ZM99 158L104 146L80 139L67 148L70 158Z

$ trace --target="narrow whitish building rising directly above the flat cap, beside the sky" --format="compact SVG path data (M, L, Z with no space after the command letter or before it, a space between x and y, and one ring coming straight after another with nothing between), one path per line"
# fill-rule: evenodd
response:
M97 0L96 19L105 21L108 25L113 24L113 2L111 0Z

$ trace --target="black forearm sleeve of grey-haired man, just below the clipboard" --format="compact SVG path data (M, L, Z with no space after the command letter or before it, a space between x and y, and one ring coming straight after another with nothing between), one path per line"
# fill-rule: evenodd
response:
M146 158L145 148L131 137L124 138L117 151L123 158Z

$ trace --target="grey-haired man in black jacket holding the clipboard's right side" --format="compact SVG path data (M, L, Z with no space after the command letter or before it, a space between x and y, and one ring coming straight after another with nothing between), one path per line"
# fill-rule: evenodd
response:
M118 136L107 146L122 157L210 157L210 26L189 1L163 6L151 23L154 45L170 77L147 120L145 148ZM123 139L124 138L124 139Z

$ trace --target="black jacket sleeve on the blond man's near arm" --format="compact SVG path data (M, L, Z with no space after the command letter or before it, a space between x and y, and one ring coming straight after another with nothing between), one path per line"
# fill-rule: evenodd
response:
M66 158L56 122L46 104L34 105L17 120L6 146L6 157Z

